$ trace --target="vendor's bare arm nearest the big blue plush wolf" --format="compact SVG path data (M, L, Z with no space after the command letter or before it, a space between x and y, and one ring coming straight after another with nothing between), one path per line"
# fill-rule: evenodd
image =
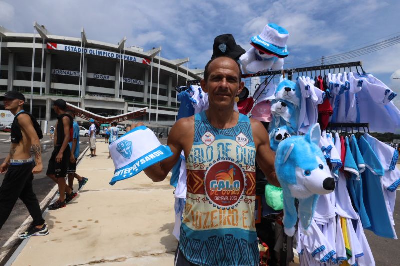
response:
M268 182L274 186L280 187L275 172L275 153L269 146L269 135L265 127L258 120L251 119L251 129L255 143L255 159L262 172L265 174Z

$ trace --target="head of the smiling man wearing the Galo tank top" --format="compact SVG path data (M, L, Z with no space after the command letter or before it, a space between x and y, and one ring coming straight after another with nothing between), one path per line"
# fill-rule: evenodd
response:
M208 66L208 80L201 80L201 87L208 92L210 105L227 108L234 104L234 98L244 87L239 80L239 67L233 59L221 57Z

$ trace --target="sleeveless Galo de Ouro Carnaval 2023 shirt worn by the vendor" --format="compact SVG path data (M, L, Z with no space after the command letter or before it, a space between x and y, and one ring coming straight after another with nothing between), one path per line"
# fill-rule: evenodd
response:
M255 145L250 120L239 114L236 126L217 129L205 112L194 119L179 248L194 264L257 265Z

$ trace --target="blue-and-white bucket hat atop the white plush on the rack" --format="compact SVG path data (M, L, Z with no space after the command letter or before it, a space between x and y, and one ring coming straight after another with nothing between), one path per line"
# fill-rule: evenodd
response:
M289 32L285 28L270 23L261 34L253 36L251 42L253 46L259 46L270 54L283 58L289 55L286 45L288 37Z

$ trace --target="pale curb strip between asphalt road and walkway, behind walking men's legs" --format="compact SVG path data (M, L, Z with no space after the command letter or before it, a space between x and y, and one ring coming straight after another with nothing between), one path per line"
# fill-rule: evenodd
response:
M86 154L87 150L89 149L89 146L84 149L84 151L79 155L78 159L76 160L76 167L80 163L81 159L83 156ZM50 190L50 192L47 194L47 196L40 202L40 209L42 211L43 217L47 214L47 206L50 204L50 202L54 199L55 193L57 192L58 186L57 184L54 185L54 187ZM11 235L11 237L4 243L4 245L1 247L6 247L6 246L14 246L17 241L19 241L18 234L20 232L23 232L23 230L33 221L32 217L30 215L26 220L21 224L21 226L15 230L14 234ZM11 257L7 260L4 266L10 266L16 259L16 257L19 255L19 253L22 251L22 249L25 247L26 243L28 242L29 238L26 238L21 241L21 243L18 245L18 248L13 252ZM0 248L0 250L1 250ZM8 252L6 252L4 255L0 255L0 263L4 258L6 258L8 255Z

